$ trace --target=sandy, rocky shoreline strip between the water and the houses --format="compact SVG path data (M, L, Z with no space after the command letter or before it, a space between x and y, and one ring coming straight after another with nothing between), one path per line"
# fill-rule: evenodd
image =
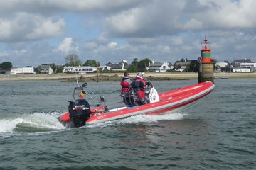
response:
M171 72L146 72L145 79L155 80L171 80L171 79L198 79L198 73L171 73ZM73 81L73 79L85 79L86 81L119 81L123 73L92 73L92 74L29 74L29 75L4 75L0 74L0 81L24 81L24 80L60 80ZM136 73L131 73L131 77L135 77ZM256 72L252 73L233 73L220 72L214 73L214 77L220 79L221 77L228 78L256 78ZM111 77L115 77L111 79Z

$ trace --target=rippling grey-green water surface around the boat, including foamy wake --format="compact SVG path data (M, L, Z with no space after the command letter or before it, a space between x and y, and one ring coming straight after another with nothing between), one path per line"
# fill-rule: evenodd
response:
M153 81L159 92L196 84ZM0 169L256 169L255 79L215 79L185 113L65 128L75 83L0 81ZM107 103L119 82L89 83Z

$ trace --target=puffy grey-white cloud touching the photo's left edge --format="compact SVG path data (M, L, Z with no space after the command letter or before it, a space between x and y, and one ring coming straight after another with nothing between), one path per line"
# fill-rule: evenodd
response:
M21 42L60 36L64 33L65 21L58 18L43 18L30 13L16 13L14 18L0 19L0 41Z

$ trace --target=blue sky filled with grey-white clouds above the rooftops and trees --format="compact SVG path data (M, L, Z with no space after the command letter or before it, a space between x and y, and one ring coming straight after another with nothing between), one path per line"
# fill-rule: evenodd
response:
M0 0L0 63L196 60L207 35L218 62L256 62L253 0Z

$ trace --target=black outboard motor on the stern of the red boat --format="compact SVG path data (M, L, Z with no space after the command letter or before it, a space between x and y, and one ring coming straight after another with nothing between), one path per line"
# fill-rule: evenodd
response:
M90 105L85 99L69 101L68 112L76 128L84 126L90 118Z

